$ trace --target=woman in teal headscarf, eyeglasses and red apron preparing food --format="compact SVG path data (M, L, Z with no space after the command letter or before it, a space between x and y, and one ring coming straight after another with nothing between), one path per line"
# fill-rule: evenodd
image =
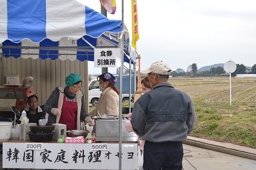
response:
M48 123L66 124L72 130L80 130L80 120L86 121L89 126L94 121L86 113L84 94L80 91L82 79L78 74L69 74L66 85L56 87L44 105L44 110L49 114Z

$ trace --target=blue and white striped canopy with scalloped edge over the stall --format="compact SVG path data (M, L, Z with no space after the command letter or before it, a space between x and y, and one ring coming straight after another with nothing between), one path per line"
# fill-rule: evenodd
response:
M119 44L116 33L122 32L122 21L109 20L76 0L0 0L0 4L0 54L5 57L94 61L92 46ZM124 46L129 54L129 35Z

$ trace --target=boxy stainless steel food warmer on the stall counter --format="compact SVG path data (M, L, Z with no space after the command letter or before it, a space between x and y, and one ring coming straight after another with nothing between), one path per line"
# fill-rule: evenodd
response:
M139 136L134 132L128 132L124 123L130 120L122 120L122 141L138 142ZM119 141L119 120L99 120L95 121L96 132L95 139L97 141Z

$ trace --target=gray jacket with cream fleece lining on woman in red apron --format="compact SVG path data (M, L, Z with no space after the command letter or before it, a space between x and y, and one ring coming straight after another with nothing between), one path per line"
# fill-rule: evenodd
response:
M51 124L59 123L60 116L55 116L51 113L52 108L58 108L61 110L62 104L63 104L63 97L64 97L64 89L65 86L56 87L56 89L52 92L49 99L44 104L44 111L49 114L48 116L48 123L51 122ZM80 130L80 120L83 120L88 116L85 110L85 104L84 104L84 94L82 91L78 91L76 93L77 98L77 129ZM49 124L49 125L51 125Z

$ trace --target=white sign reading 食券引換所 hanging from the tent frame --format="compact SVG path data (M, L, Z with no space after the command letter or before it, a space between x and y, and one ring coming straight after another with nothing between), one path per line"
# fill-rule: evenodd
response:
M94 67L120 67L120 48L94 49Z

